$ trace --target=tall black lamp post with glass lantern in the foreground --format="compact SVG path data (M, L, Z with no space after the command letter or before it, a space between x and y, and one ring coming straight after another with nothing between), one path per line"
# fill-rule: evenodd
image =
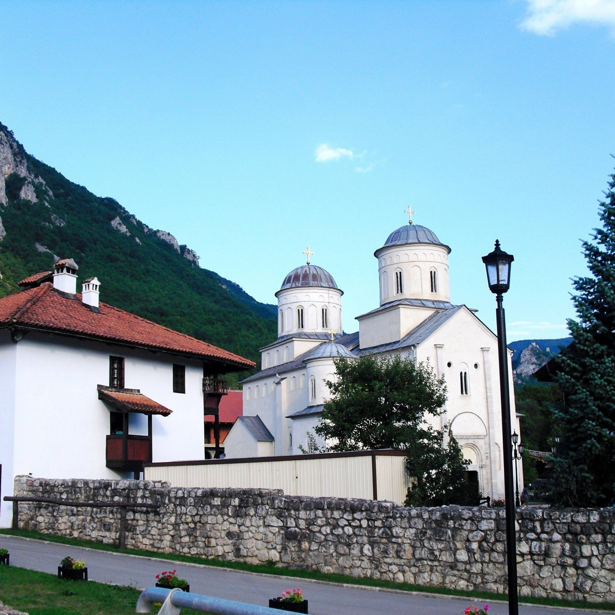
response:
M512 445L510 434L510 387L508 382L508 349L506 346L506 319L502 300L510 287L512 254L503 252L496 240L495 249L483 256L487 270L489 290L496 295L496 322L498 324L498 358L500 397L502 405L502 443L504 445L504 499L506 500L506 557L508 568L508 613L518 615L517 544L515 536L515 494L512 484Z

